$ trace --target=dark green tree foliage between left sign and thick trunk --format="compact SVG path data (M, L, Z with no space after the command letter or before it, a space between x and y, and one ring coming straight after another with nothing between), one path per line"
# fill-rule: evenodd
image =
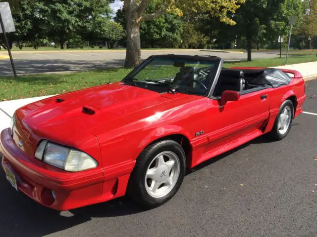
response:
M123 38L124 34L121 26L110 23L112 1L11 0L16 32L8 34L10 44L15 41L22 48L28 43L37 49L53 41L64 48L64 45L80 46L83 40L108 39L113 45L113 39Z

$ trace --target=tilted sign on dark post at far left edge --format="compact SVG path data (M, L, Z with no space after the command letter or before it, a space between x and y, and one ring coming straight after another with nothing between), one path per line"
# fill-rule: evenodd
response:
M14 77L16 77L16 70L14 67L14 62L13 62L13 58L12 58L12 54L11 54L11 50L9 46L9 41L6 37L6 33L15 32L14 22L13 22L10 6L8 2L0 2L0 25L1 25L0 33L3 33L4 35L6 48L8 50L8 54L10 57L13 74L14 74Z

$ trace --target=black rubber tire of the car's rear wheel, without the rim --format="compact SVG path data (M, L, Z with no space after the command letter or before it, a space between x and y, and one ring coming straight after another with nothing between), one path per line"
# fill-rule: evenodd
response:
M279 122L279 119L280 119L280 117L281 117L281 115L286 107L290 109L290 113L291 113L290 123L288 125L287 130L285 132L281 132L281 129L279 128L278 122ZM282 140L283 138L285 138L287 136L289 130L291 129L293 118L294 118L294 104L290 100L285 100L283 102L283 104L281 105L281 107L279 108L279 113L278 113L277 117L275 118L272 130L269 132L269 136L271 137L271 139L273 139L275 141L279 141L279 140Z

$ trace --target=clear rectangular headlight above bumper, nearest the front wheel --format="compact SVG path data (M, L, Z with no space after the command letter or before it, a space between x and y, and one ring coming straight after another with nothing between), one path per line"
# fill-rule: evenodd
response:
M98 162L84 152L63 147L46 140L42 141L35 152L35 158L66 171L78 172L96 168Z

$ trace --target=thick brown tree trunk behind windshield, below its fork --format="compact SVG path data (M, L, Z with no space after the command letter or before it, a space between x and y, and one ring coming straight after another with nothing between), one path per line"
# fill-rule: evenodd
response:
M140 23L136 19L129 19L127 15L127 51L125 68L135 68L141 63Z

